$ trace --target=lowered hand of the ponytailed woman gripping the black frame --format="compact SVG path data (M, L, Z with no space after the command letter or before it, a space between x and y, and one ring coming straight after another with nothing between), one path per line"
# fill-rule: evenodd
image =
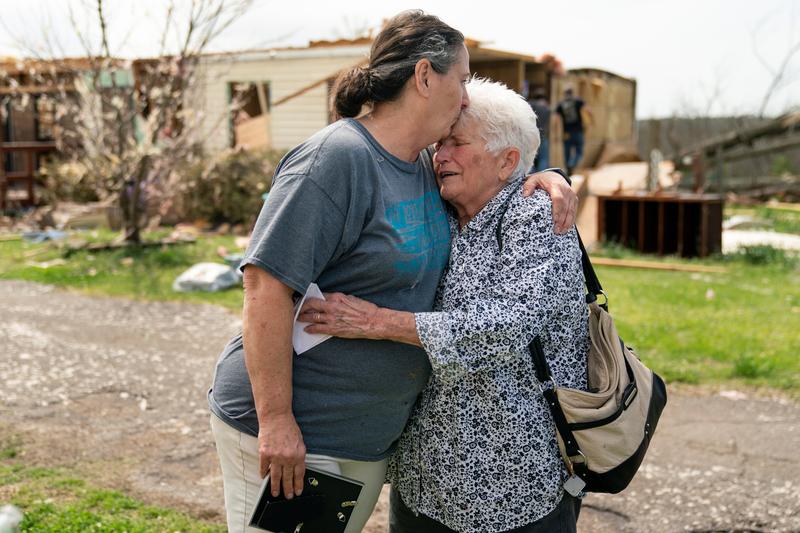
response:
M270 476L270 489L291 500L303 493L306 472L306 446L292 415L271 417L259 423L258 455L261 477Z

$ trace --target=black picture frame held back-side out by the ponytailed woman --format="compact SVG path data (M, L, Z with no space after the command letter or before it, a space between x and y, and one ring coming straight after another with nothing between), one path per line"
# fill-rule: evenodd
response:
M338 474L306 468L302 496L272 496L264 478L250 527L275 533L342 533L364 484ZM281 491L283 492L283 491Z

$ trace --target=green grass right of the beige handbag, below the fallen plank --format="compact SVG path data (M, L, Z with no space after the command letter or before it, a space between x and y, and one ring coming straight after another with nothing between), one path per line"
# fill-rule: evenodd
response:
M800 271L723 263L724 274L598 267L619 333L669 381L800 394Z

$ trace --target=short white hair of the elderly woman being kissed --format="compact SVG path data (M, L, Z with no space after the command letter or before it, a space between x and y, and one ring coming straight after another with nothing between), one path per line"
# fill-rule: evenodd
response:
M505 84L486 78L470 79L467 94L469 105L459 120L475 121L486 149L495 155L506 148L518 149L514 175L527 173L541 142L536 113L528 102Z

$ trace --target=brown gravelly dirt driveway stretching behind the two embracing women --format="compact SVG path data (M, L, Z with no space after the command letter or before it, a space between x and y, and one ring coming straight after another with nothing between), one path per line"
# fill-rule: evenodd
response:
M17 439L26 463L222 520L205 395L236 316L15 281L0 281L0 302L0 443ZM587 496L579 531L800 531L800 405L670 394L640 474L619 495ZM384 494L365 531L385 530Z

